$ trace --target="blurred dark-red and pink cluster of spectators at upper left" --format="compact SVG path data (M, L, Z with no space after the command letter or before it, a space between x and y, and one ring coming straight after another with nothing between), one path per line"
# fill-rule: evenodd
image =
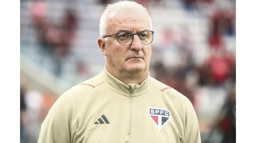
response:
M58 76L75 40L76 13L72 8L66 9L62 21L54 23L47 17L47 4L43 0L34 1L29 12L36 30L38 52L54 63L53 71Z

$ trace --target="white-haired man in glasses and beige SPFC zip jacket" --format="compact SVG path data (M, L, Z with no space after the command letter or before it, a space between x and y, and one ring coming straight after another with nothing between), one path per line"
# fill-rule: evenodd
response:
M38 143L201 142L189 99L149 76L151 29L136 2L108 5L98 39L104 71L55 102Z

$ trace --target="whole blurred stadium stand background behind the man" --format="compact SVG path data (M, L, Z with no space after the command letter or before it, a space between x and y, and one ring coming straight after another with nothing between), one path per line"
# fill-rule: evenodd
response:
M236 0L134 0L152 18L150 76L188 97L202 143L236 142ZM99 20L117 0L20 0L20 135L67 89L98 75Z

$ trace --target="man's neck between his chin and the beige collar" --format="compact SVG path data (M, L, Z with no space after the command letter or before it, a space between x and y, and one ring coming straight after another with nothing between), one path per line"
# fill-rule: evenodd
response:
M137 73L128 73L124 70L119 71L108 64L105 65L107 71L117 78L118 80L122 81L124 84L141 84L147 77L148 77L148 69L142 70Z

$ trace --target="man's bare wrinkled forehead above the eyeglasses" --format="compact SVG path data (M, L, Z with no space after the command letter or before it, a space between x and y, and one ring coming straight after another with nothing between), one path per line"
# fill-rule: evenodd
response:
M127 30L136 32L150 30L149 17L146 12L141 11L119 11L108 19L108 31L116 32Z

